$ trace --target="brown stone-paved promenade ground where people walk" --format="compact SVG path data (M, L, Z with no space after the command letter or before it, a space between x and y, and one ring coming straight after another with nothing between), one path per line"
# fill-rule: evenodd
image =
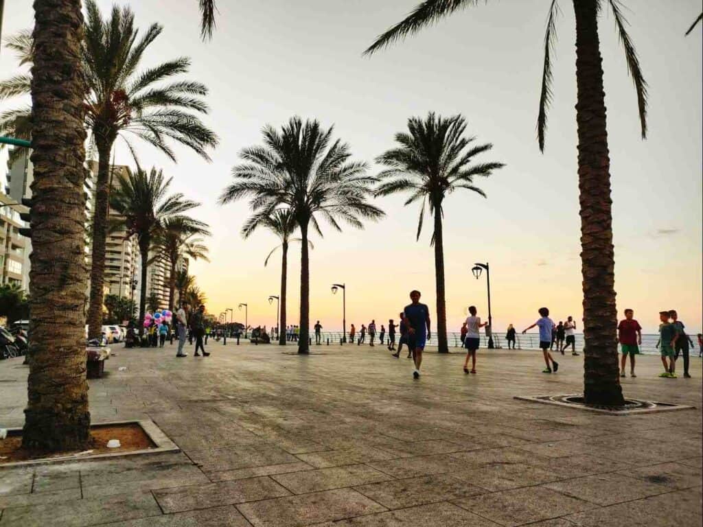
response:
M695 410L616 417L513 398L581 391L581 357L546 375L538 352L481 350L464 375L428 352L413 380L380 346L113 349L93 422L152 419L181 452L0 468L0 527L702 525L698 358L692 379L656 356L621 379ZM20 362L0 362L1 427L22 426Z

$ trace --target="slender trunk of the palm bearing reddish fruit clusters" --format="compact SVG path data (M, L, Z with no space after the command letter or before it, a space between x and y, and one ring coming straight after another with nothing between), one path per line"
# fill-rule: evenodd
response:
M103 285L105 283L105 238L108 221L108 181L112 144L96 137L98 177L93 211L93 247L91 250L90 304L88 307L88 337L98 339L103 327Z

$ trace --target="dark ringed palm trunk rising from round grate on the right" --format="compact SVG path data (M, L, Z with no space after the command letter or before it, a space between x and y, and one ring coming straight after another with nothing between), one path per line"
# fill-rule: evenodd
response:
M585 339L583 396L588 404L621 405L624 400L617 363L610 157L597 4L597 0L574 0Z

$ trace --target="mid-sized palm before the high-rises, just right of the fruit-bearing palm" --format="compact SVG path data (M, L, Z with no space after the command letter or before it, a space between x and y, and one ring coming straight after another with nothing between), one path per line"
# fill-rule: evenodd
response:
M127 176L117 177L117 186L110 196L110 206L124 218L127 238L137 237L141 256L141 280L139 298L139 334L143 332L146 308L146 276L149 266L149 250L155 237L163 230L166 221L183 217L184 212L198 207L198 203L186 200L183 194L169 195L172 179L166 179L161 170L150 172L137 167Z

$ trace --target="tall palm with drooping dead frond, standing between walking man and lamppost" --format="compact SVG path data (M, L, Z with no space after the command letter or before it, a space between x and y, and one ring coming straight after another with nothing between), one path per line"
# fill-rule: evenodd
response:
M434 218L432 245L434 245L435 285L437 287L437 351L449 353L446 341L446 302L444 292L444 239L442 235L443 203L448 194L465 188L486 197L475 186L475 176L490 176L503 163L471 164L473 158L493 148L493 145L471 146L474 138L463 136L466 129L461 115L441 117L433 112L423 121L420 117L408 119L408 132L396 134L397 148L380 155L376 162L389 167L378 177L382 181L376 195L385 196L410 192L406 205L422 200L418 240L423 229L425 204Z

